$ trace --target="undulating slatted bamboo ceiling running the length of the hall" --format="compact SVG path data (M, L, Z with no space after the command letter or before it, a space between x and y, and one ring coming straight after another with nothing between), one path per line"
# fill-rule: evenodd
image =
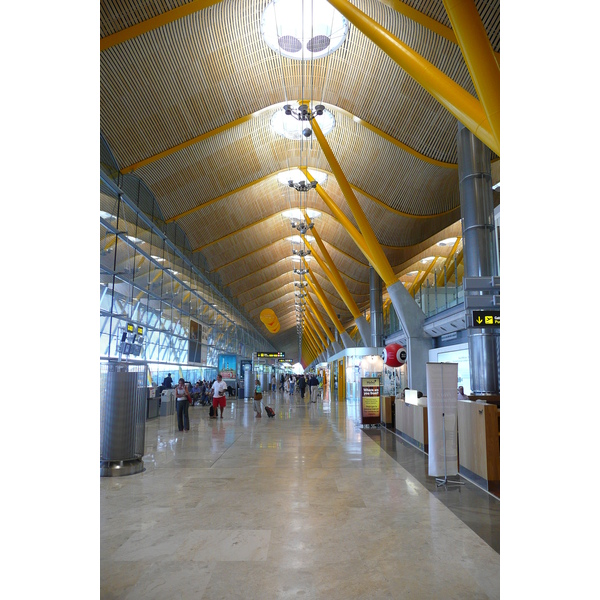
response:
M369 267L315 190L302 194L278 181L300 165L326 173L322 188L357 227L318 141L280 136L270 125L274 112L305 100L333 114L327 142L390 265L408 285L421 258L451 252L436 242L461 235L457 121L351 24L329 56L282 57L261 36L268 4L101 0L100 126L122 172L145 182L165 220L181 226L256 328L296 356L298 265L290 257L300 246L288 239L297 231L283 211L302 204L321 212L314 229L361 310L369 304ZM353 4L477 97L442 0ZM475 5L499 53L499 0ZM315 260L310 267L344 326L350 324L352 314L325 272ZM264 308L275 311L277 334L260 321Z

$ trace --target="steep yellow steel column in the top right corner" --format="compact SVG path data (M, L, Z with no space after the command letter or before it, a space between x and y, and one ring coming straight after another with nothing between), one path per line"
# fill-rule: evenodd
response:
M473 0L444 0L444 6L499 150L500 67L492 45Z

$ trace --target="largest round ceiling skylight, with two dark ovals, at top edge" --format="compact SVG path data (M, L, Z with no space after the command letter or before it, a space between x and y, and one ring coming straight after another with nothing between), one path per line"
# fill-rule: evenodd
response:
M310 60L327 56L342 45L348 21L326 0L312 0L310 4L273 0L260 20L260 32L275 52L296 60Z

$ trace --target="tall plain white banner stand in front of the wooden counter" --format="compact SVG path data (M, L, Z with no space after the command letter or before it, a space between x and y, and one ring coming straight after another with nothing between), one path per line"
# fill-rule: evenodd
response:
M458 475L456 396L458 364L427 363L426 369L429 476ZM445 468L444 436L446 439Z

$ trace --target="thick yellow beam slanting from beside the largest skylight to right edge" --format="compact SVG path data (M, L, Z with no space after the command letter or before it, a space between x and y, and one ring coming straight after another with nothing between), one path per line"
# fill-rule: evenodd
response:
M423 86L473 135L500 155L500 147L496 144L490 123L477 98L471 96L469 92L455 81L452 81L445 73L426 61L412 48L401 42L348 0L328 0L328 2L372 42L377 44L392 60L398 63L408 75Z

